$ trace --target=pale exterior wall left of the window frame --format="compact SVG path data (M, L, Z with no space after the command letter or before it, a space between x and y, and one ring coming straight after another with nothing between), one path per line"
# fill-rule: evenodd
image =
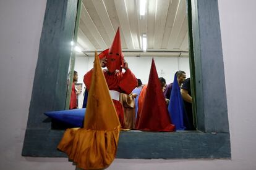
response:
M21 156L46 0L0 1L0 169L74 169Z

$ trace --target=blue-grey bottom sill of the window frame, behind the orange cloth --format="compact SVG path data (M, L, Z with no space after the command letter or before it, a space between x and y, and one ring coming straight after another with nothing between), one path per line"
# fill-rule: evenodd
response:
M25 136L30 136L30 140L25 141L22 156L66 157L66 154L57 150L63 133L27 129ZM121 132L116 158L231 158L229 134L194 131Z

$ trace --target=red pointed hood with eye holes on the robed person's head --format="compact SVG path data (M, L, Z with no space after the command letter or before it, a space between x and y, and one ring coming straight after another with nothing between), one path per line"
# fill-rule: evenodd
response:
M106 57L106 67L108 68L108 71L110 73L122 69L121 66L124 63L124 55L122 54L121 49L121 38L119 28L116 31L116 36L114 37L111 47L101 52L101 54L99 54L99 57L100 59Z

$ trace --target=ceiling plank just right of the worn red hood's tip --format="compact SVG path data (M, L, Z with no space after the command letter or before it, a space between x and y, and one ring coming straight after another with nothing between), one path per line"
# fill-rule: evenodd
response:
M116 6L116 14L119 18L121 30L124 33L124 39L128 49L134 49L134 41L132 39L132 33L130 31L130 24L127 15L126 2L124 0L114 0Z

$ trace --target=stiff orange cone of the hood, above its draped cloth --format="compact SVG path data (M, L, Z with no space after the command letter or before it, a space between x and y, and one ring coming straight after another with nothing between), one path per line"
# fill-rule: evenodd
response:
M95 52L92 83L83 128L111 131L117 126L120 126L119 119L109 95L98 54Z

